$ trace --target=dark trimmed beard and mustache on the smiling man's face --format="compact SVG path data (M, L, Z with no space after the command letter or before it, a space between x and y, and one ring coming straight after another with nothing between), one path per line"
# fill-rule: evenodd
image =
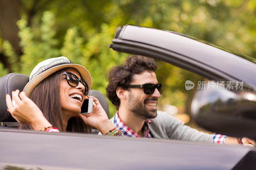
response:
M140 101L138 98L135 98L134 96L129 94L129 103L128 103L128 109L134 113L135 116L138 116L142 119L152 119L157 116L156 109L148 110L145 106L145 102L148 100L156 100L155 97L149 97L148 99L145 99L144 103Z

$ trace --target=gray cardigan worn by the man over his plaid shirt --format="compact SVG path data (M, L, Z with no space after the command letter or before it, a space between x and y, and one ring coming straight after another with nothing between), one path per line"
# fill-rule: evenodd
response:
M155 138L192 140L199 142L213 142L213 135L199 132L178 120L176 117L164 111L157 111L157 116L153 119L149 131ZM114 117L110 119L114 123Z

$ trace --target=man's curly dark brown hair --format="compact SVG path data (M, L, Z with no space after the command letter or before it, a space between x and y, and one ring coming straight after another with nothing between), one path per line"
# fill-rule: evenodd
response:
M123 65L114 66L108 72L107 97L116 105L116 109L120 106L120 99L116 95L117 87L128 89L127 85L132 82L134 74L140 74L144 71L156 71L156 62L148 57L140 55L128 56Z

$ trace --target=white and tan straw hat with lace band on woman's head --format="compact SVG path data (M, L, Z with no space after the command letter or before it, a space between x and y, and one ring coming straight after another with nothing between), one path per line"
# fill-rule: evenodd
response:
M81 75L82 80L84 80L88 84L89 89L91 89L92 77L85 67L79 64L74 64L66 57L56 57L44 60L36 65L36 67L32 70L29 76L29 82L26 84L23 91L29 97L37 84L39 84L50 74L66 67L75 68Z

